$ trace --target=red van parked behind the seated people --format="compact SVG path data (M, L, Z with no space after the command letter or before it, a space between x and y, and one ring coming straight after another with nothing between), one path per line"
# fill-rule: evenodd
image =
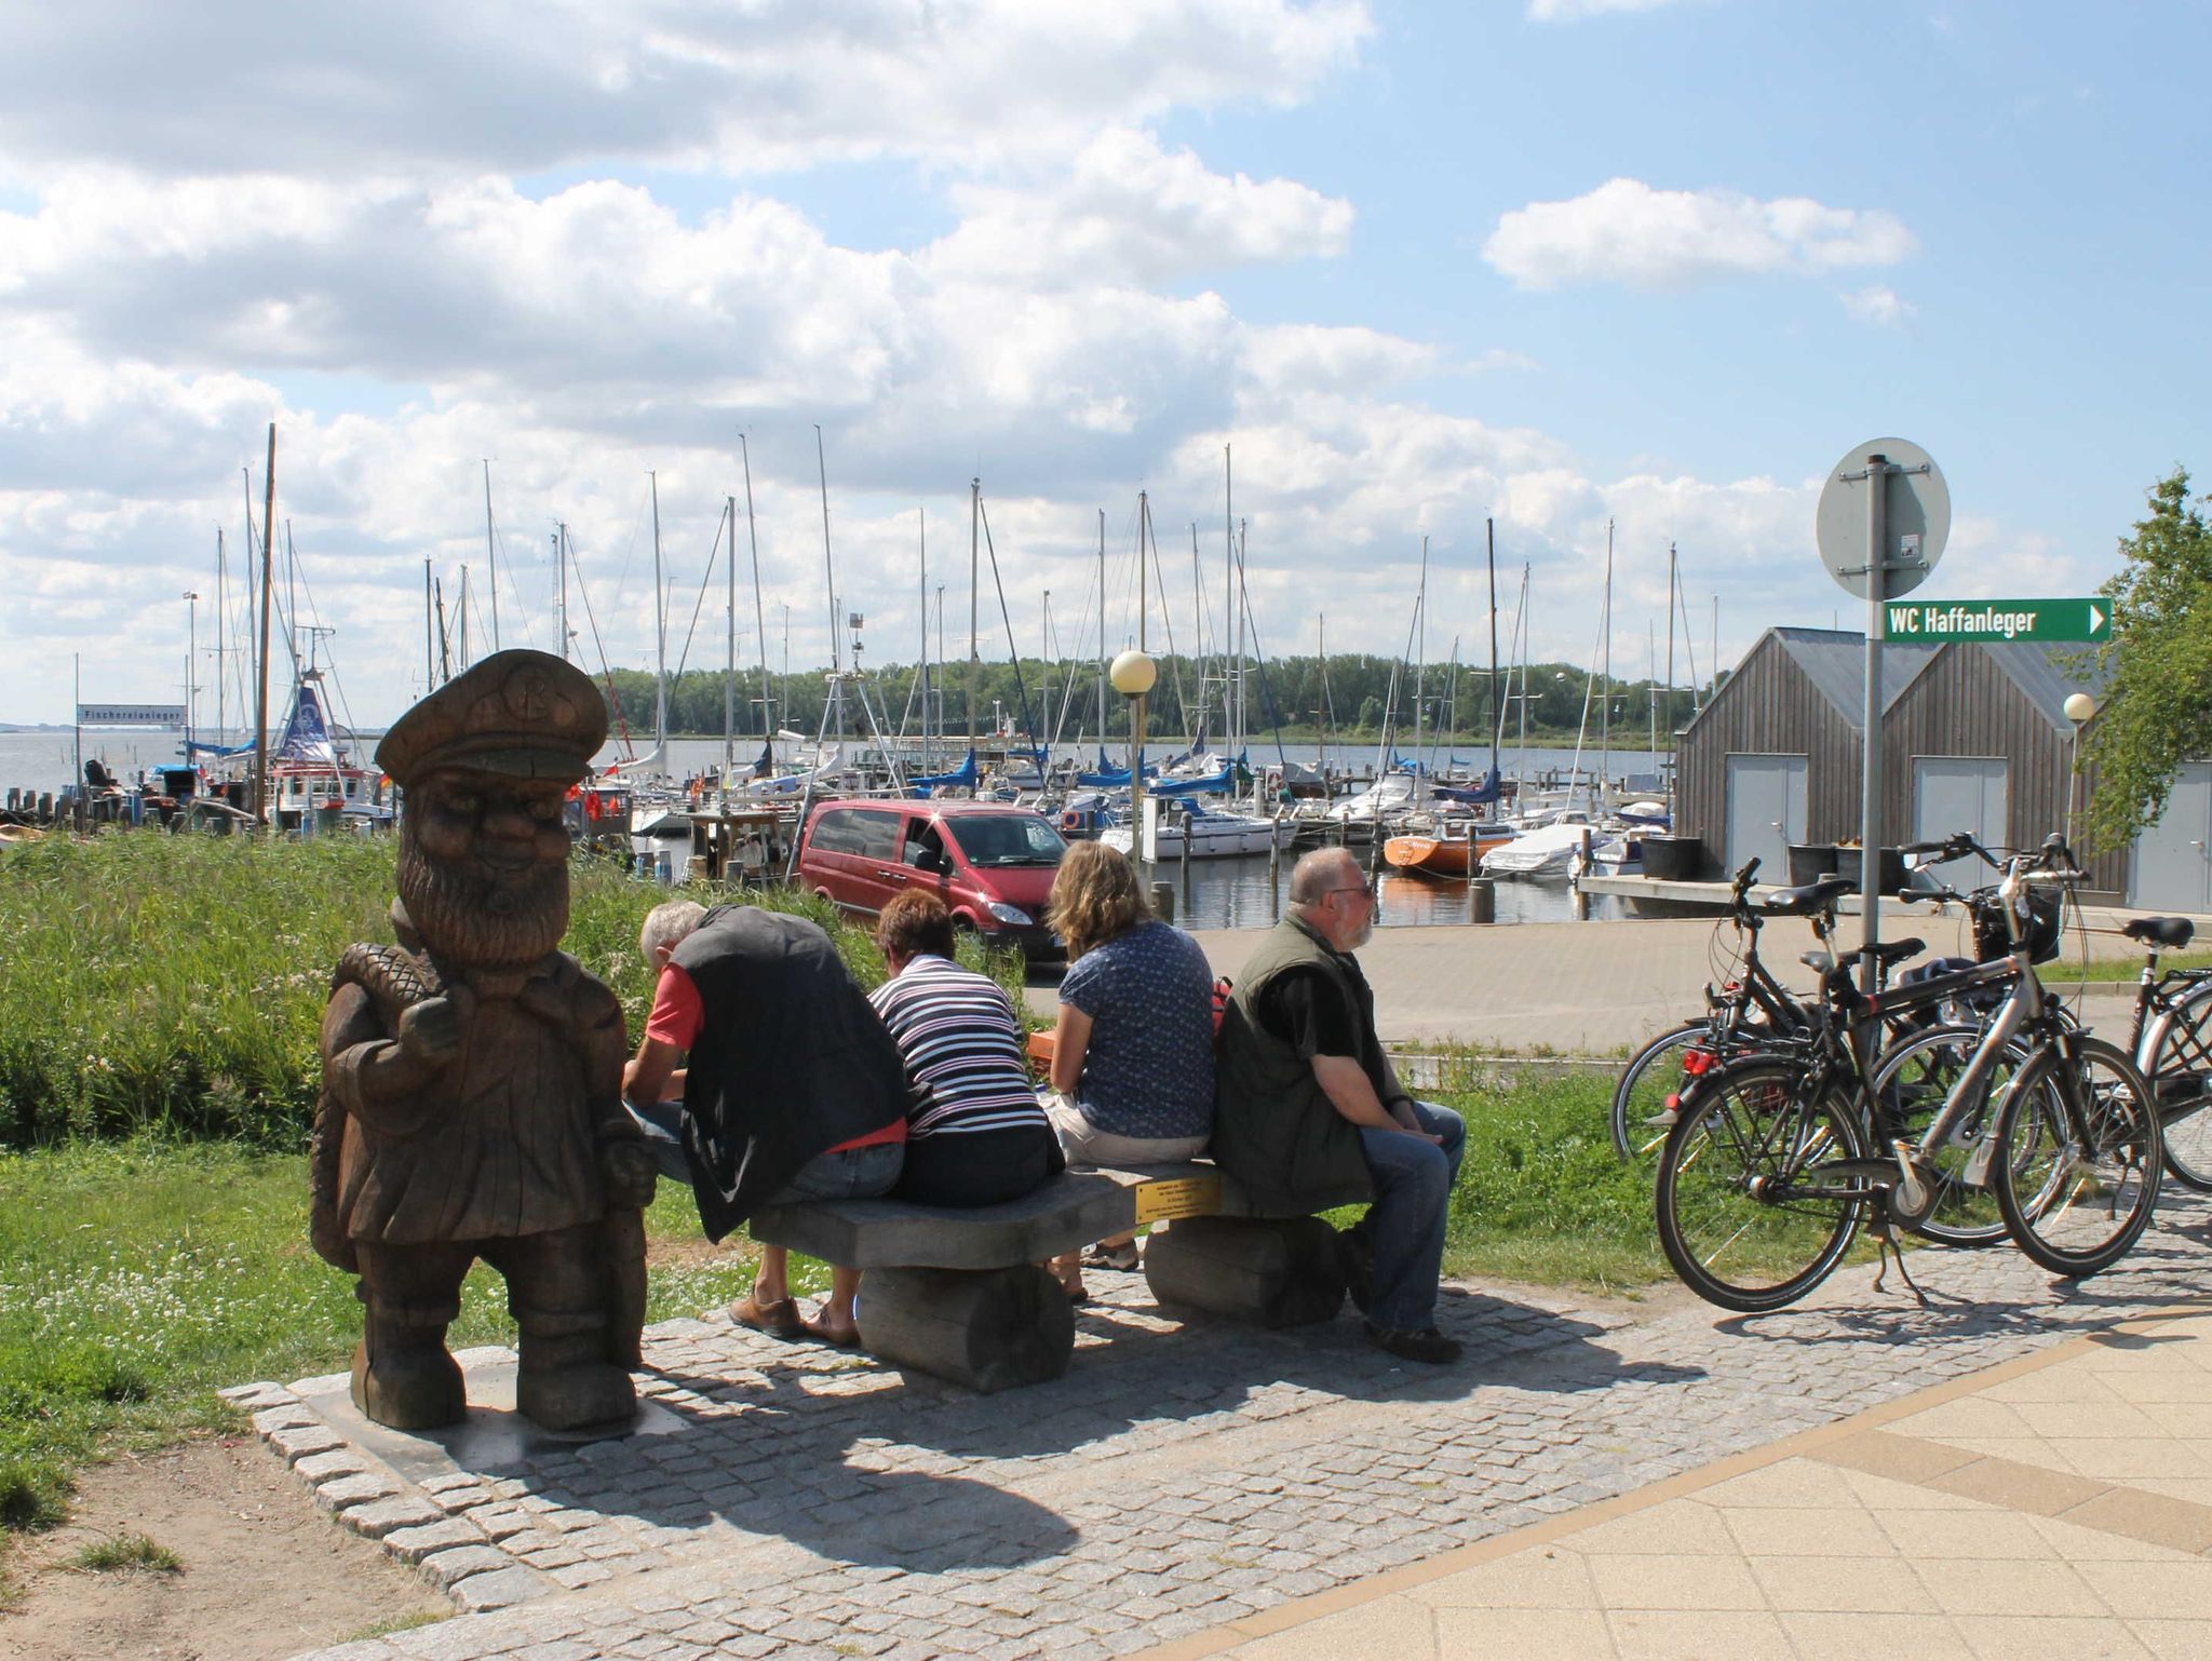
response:
M1033 807L998 801L825 801L807 814L796 882L858 918L927 887L953 922L1026 958L1062 958L1044 927L1066 840Z

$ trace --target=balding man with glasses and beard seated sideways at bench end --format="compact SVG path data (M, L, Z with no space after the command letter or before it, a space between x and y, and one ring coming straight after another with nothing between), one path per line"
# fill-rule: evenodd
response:
M1449 1362L1460 1345L1436 1329L1436 1285L1467 1126L1416 1101L1383 1053L1352 955L1374 927L1376 891L1352 854L1298 860L1290 909L1245 960L1221 1022L1212 1155L1261 1216L1307 1216L1325 1194L1365 1188L1374 1203L1345 1232L1345 1258L1367 1340Z

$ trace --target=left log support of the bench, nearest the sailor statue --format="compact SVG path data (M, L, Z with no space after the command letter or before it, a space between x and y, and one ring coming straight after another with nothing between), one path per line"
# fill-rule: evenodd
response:
M869 1270L854 1312L860 1343L894 1367L991 1393L1068 1371L1075 1312L1029 1263L1006 1270Z

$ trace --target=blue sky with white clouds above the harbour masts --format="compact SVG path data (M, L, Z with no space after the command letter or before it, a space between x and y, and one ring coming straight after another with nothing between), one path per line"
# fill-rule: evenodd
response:
M1000 591L1097 652L1102 535L1135 639L1144 493L1155 650L1219 639L1234 513L1265 652L1405 650L1427 537L1418 650L1484 661L1491 520L1500 630L1526 566L1588 664L1610 524L1613 670L1672 544L1703 677L1858 621L1814 506L1878 436L1951 493L1924 595L2086 595L2212 467L2208 55L2194 0L9 7L0 719L77 666L181 703L192 650L237 719L270 422L361 725L425 571L453 650L462 584L471 652L560 650L566 566L573 655L650 668L655 491L692 668L728 498L743 664L825 664L832 579L863 664L925 597L964 657L971 480L993 659Z

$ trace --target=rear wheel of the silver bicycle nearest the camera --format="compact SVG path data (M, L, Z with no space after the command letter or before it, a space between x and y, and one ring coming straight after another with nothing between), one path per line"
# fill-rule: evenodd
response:
M1708 1073L1659 1150L1659 1245L1705 1303L1781 1309L1851 1250L1874 1190L1832 1168L1860 1157L1858 1121L1836 1090L1803 1101L1803 1082L1765 1059Z

